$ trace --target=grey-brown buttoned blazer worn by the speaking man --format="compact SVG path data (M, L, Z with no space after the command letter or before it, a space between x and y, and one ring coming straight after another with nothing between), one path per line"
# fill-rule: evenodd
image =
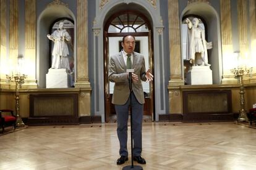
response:
M145 100L142 81L147 80L145 77L145 60L143 55L137 52L133 53L133 57L132 68L134 68L135 75L139 76L139 80L136 83L132 83L132 91L139 103L143 104ZM129 99L130 89L126 73L126 63L124 62L124 57L122 57L122 52L111 56L108 79L115 83L112 103L115 105L124 105L127 99Z

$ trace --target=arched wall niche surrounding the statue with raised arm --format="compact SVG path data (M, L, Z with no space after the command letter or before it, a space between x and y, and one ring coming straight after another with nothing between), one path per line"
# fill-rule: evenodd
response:
M184 28L187 26L184 19L189 16L196 16L203 20L205 26L205 37L208 42L212 42L213 48L208 50L208 62L211 64L213 72L213 84L221 84L222 58L221 58L221 37L220 37L220 17L210 4L205 2L194 2L189 4L181 14L181 39L184 39ZM184 26L186 25L186 26ZM182 48L182 60L186 55L186 48ZM186 71L184 71L185 73Z

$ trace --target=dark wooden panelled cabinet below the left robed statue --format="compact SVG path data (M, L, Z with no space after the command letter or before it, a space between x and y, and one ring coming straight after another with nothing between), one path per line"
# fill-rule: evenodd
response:
M28 124L79 124L78 94L30 94Z

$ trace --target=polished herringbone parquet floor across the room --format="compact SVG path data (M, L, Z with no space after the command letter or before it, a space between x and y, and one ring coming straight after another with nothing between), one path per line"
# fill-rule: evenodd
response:
M0 169L122 169L118 150L114 123L30 126L0 136ZM256 169L256 129L144 123L142 156L143 169Z

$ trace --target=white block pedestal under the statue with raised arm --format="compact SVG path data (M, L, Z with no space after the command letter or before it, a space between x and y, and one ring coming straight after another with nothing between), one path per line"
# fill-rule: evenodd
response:
M193 66L187 73L187 84L213 84L210 66Z

